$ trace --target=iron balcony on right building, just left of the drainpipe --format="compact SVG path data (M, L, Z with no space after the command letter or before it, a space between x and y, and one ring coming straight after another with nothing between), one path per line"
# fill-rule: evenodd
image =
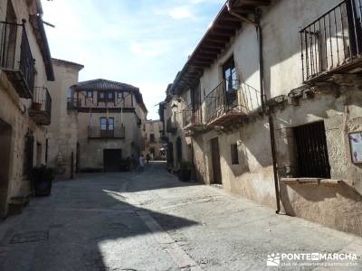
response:
M205 96L205 123L223 126L261 106L260 91L238 79L223 80Z

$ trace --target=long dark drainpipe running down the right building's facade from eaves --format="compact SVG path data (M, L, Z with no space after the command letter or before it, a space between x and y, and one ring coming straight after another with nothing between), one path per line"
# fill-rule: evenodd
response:
M261 103L262 103L262 113L268 115L269 129L271 136L271 160L272 160L272 170L274 175L274 187L275 187L275 201L276 201L276 213L281 212L281 197L279 192L279 178L278 178L278 166L276 159L276 147L275 147L275 135L274 135L274 123L271 116L271 112L267 111L265 106L266 95L265 95L265 86L264 86L264 61L262 56L262 26L260 24L261 13L260 10L257 10L254 15L254 20L252 21L248 17L238 14L233 11L231 0L226 2L226 6L229 14L232 14L234 17L239 18L241 21L246 23L252 23L255 25L256 35L258 40L259 48L259 77L260 77L260 88L261 88Z

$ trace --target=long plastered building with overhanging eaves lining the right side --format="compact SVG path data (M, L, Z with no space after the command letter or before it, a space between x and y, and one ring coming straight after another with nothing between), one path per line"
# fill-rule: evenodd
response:
M168 153L177 136L200 182L362 235L361 13L228 1L161 104L165 126L180 116Z

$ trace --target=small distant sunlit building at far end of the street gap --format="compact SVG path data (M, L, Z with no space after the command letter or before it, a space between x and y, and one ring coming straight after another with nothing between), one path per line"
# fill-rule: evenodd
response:
M145 126L145 154L152 154L155 160L163 160L166 151L162 145L161 135L163 133L162 122L157 120L146 120Z

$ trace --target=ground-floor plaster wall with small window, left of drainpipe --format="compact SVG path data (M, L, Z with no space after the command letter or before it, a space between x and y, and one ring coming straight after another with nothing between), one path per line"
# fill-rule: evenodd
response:
M208 132L195 137L196 173L201 181L213 183L210 140L219 139L224 190L274 207L270 134L267 120L260 118L233 133ZM239 164L232 164L231 145L238 146Z

